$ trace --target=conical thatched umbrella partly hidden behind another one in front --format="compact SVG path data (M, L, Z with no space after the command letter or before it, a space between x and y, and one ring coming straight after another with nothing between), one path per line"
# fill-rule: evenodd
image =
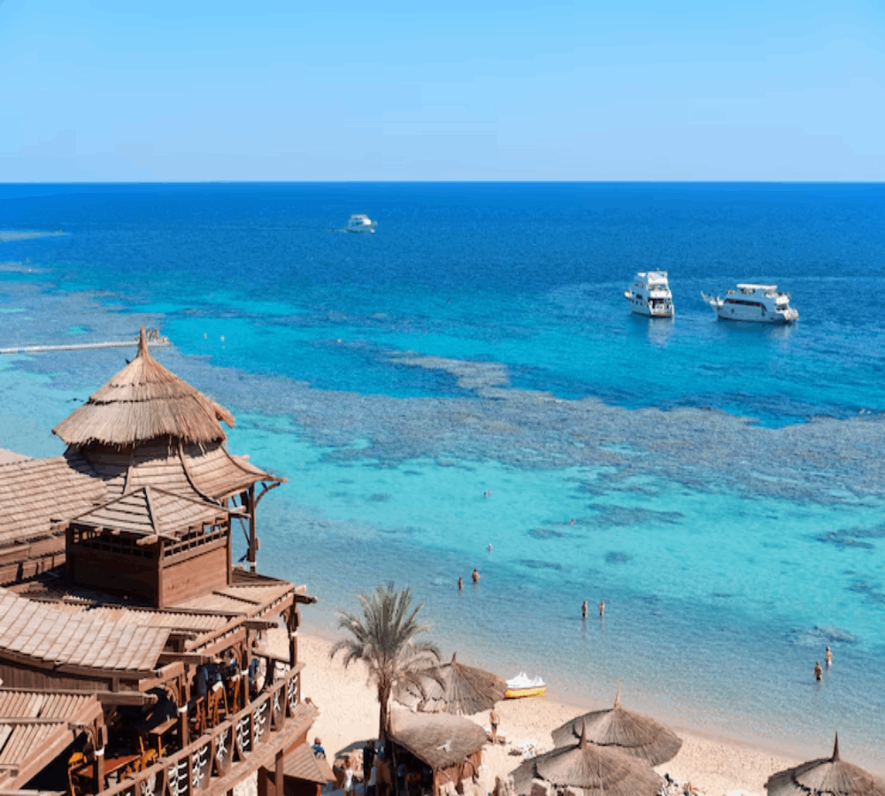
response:
M620 688L613 708L596 710L566 722L553 731L553 743L573 746L585 728L588 743L617 747L652 766L673 760L682 746L681 739L663 724L650 716L621 708Z

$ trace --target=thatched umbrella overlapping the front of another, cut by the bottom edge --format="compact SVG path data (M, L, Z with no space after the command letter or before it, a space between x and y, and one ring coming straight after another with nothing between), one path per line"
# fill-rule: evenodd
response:
M641 760L615 749L594 746L581 733L577 746L562 746L528 760L513 772L519 796L532 791L532 780L574 788L584 796L657 796L662 780Z

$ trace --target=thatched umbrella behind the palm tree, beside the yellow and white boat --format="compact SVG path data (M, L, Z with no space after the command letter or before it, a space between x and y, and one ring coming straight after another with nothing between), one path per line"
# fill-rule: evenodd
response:
M419 683L404 685L396 700L421 713L451 713L473 716L495 707L504 699L507 683L503 677L475 666L458 663L458 653L450 663L436 667Z

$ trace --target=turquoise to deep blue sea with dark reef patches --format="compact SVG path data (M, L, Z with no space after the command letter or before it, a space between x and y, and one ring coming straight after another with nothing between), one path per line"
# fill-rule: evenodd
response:
M798 323L718 321L746 281ZM309 630L409 586L443 656L879 773L883 287L881 184L0 186L0 348L166 335L287 479L258 567ZM134 354L0 356L0 447L60 454Z

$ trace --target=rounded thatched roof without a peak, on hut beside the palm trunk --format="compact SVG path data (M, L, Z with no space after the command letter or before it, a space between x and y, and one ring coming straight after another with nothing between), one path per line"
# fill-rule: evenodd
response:
M390 739L434 770L465 762L487 741L479 724L448 713L396 711L392 724Z

